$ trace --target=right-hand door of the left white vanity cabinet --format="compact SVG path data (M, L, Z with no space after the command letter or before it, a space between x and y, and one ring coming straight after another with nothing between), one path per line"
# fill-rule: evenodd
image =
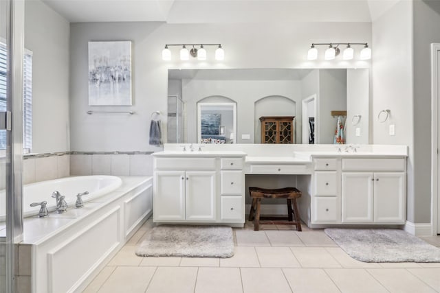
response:
M215 172L186 172L186 220L216 220Z

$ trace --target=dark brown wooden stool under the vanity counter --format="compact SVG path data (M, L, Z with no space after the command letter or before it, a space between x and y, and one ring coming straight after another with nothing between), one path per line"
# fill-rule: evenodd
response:
M250 208L249 220L254 220L254 231L259 231L260 220L288 220L289 222L264 222L264 224L287 224L296 225L296 231L301 231L301 219L296 205L296 198L301 197L301 191L295 187L281 189L263 189L259 187L249 187L252 206ZM285 217L260 217L260 205L262 198L287 198L287 218ZM293 209L292 209L293 204ZM295 221L293 221L295 216ZM262 223L263 224L263 223Z

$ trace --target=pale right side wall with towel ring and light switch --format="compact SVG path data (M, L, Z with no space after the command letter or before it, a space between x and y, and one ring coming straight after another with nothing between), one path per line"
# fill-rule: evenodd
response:
M409 145L407 218L415 221L415 150L412 86L412 1L402 0L373 21L371 126L375 144ZM390 109L387 121L377 115ZM388 134L395 125L395 136ZM428 143L428 142L423 142ZM426 174L429 176L429 174ZM418 196L419 192L417 192ZM428 211L429 213L429 211Z

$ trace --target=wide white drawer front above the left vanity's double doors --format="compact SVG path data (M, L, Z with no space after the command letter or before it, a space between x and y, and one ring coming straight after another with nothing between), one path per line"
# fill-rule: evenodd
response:
M215 158L155 158L155 169L204 171L215 167Z

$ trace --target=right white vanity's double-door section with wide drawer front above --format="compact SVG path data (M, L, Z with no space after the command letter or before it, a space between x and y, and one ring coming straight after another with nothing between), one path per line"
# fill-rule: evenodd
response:
M405 159L342 159L342 223L404 224Z

